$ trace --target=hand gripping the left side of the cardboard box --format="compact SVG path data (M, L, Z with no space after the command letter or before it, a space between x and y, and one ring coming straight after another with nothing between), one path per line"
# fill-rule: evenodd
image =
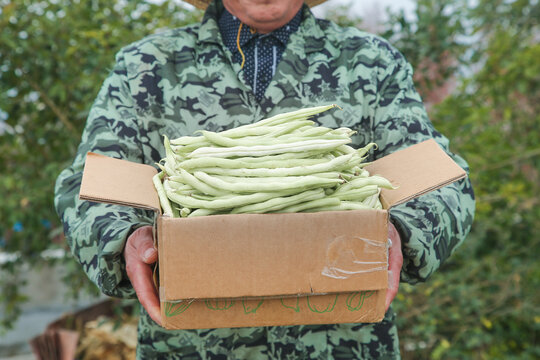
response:
M124 259L127 275L139 302L152 320L161 325L159 296L152 277L151 265L157 261L157 250L154 248L151 226L141 227L129 236Z

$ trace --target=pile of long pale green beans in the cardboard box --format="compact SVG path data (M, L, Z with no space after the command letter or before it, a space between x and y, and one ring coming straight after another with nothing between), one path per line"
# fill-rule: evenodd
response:
M164 137L154 176L163 215L290 213L381 208L388 180L370 176L375 146L353 149L349 128L316 126L310 118L336 105L280 114L222 132Z

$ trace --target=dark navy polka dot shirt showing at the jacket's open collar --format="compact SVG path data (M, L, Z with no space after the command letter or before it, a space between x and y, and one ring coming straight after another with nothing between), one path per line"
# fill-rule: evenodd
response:
M245 57L243 60L236 42L241 22L227 9L223 10L219 19L221 36L233 54L233 61L239 64L244 62L244 80L251 85L258 101L263 98L264 92L276 72L289 36L298 29L301 22L302 9L288 24L268 34L257 33L252 31L249 26L242 25L239 43Z

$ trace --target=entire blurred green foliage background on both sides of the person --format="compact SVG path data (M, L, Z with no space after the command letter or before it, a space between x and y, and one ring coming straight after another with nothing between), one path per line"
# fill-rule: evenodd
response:
M381 35L416 69L436 128L471 167L477 213L466 242L394 303L404 359L540 358L540 5L418 0ZM0 0L0 328L18 316L22 262L64 248L53 185L123 45L200 18L172 1ZM346 8L329 14L362 27ZM434 96L436 95L436 96ZM433 100L436 99L436 100ZM441 99L443 99L441 101ZM70 297L95 291L67 255Z

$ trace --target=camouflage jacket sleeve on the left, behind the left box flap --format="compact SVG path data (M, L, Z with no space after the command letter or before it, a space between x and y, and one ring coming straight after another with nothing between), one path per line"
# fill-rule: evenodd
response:
M104 294L123 298L135 295L125 272L125 241L135 228L152 224L152 214L79 200L79 188L88 151L143 162L126 74L119 53L90 110L75 159L60 173L55 187L56 211L73 255Z

